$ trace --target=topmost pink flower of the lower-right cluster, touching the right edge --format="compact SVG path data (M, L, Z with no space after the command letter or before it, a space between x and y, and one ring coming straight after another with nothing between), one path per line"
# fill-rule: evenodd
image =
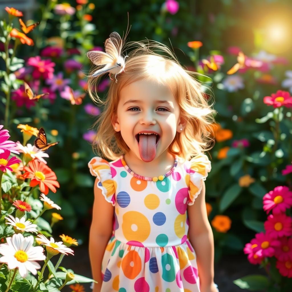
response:
M277 186L263 197L263 209L267 213L273 210L273 214L284 213L292 206L292 192L286 186Z

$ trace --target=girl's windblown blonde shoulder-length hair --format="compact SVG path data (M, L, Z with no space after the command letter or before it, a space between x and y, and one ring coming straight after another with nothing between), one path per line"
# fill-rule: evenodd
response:
M185 160L210 150L214 141L211 138L214 123L212 105L208 105L201 84L191 75L196 72L184 69L174 53L157 41L132 41L124 44L123 52L127 52L125 72L117 75L117 83L113 77L104 101L97 95L96 87L99 77L88 77L88 93L91 99L104 106L104 111L98 116L92 128L97 128L93 141L93 151L109 160L116 160L121 154L128 152L129 147L124 142L121 133L112 126L112 116L117 111L119 93L122 88L138 80L151 80L167 86L173 93L180 107L180 115L187 121L182 133L176 133L168 147L168 152L177 154ZM161 55L156 51L166 53ZM124 54L126 55L126 54ZM96 68L93 68L94 72ZM211 146L210 146L211 145Z

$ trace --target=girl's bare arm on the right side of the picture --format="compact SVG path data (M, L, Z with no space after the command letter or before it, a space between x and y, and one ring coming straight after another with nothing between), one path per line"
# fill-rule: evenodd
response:
M193 205L187 207L189 239L197 255L201 292L217 291L214 284L214 238L210 226L206 202L205 182Z

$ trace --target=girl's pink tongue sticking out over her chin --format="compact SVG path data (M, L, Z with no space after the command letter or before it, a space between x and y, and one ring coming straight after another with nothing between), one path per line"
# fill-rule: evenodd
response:
M139 154L143 161L149 162L156 155L156 135L140 134L139 135Z

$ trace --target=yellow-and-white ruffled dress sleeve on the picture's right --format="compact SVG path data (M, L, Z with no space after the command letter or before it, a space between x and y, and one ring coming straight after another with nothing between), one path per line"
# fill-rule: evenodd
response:
M203 188L208 172L211 171L211 161L207 155L200 153L190 160L190 181L188 205L193 205Z

